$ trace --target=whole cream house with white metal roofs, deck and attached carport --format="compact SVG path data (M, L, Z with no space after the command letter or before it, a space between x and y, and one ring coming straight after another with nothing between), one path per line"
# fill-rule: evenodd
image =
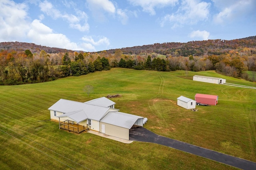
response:
M119 112L115 104L106 97L84 103L60 99L48 110L50 118L59 121L59 128L78 133L95 130L129 140L130 128L143 127L144 117Z

